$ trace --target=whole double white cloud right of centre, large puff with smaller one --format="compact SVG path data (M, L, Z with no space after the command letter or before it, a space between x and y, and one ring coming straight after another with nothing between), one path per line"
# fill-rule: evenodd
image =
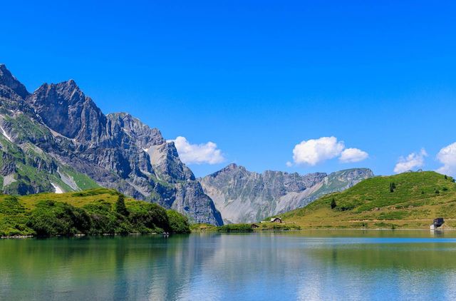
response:
M336 157L342 163L353 163L365 160L368 156L368 153L359 148L345 148L343 141L337 141L333 136L302 141L293 149L294 163L312 166ZM286 165L289 166L289 163Z

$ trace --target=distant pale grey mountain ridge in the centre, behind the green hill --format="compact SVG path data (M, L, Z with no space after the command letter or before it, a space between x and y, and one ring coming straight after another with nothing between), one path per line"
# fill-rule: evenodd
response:
M299 175L271 170L254 173L230 164L198 180L225 223L251 223L304 207L321 195L344 190L372 176L367 168Z

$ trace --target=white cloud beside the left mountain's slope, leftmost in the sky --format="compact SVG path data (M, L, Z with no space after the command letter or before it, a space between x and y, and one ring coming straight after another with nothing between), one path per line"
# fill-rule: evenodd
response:
M222 151L213 142L191 144L187 138L179 136L172 140L179 153L180 160L186 164L217 164L222 163L225 158Z

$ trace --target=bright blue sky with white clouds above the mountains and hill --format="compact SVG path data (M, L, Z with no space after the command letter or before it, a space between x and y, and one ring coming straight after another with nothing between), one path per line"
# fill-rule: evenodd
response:
M185 137L197 175L456 170L454 2L91 2L1 4L0 62Z

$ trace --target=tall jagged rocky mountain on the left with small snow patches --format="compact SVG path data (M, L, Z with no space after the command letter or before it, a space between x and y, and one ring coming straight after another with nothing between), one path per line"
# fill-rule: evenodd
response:
M75 81L28 93L0 65L0 187L4 193L103 186L222 225L174 143L128 113L104 115Z

